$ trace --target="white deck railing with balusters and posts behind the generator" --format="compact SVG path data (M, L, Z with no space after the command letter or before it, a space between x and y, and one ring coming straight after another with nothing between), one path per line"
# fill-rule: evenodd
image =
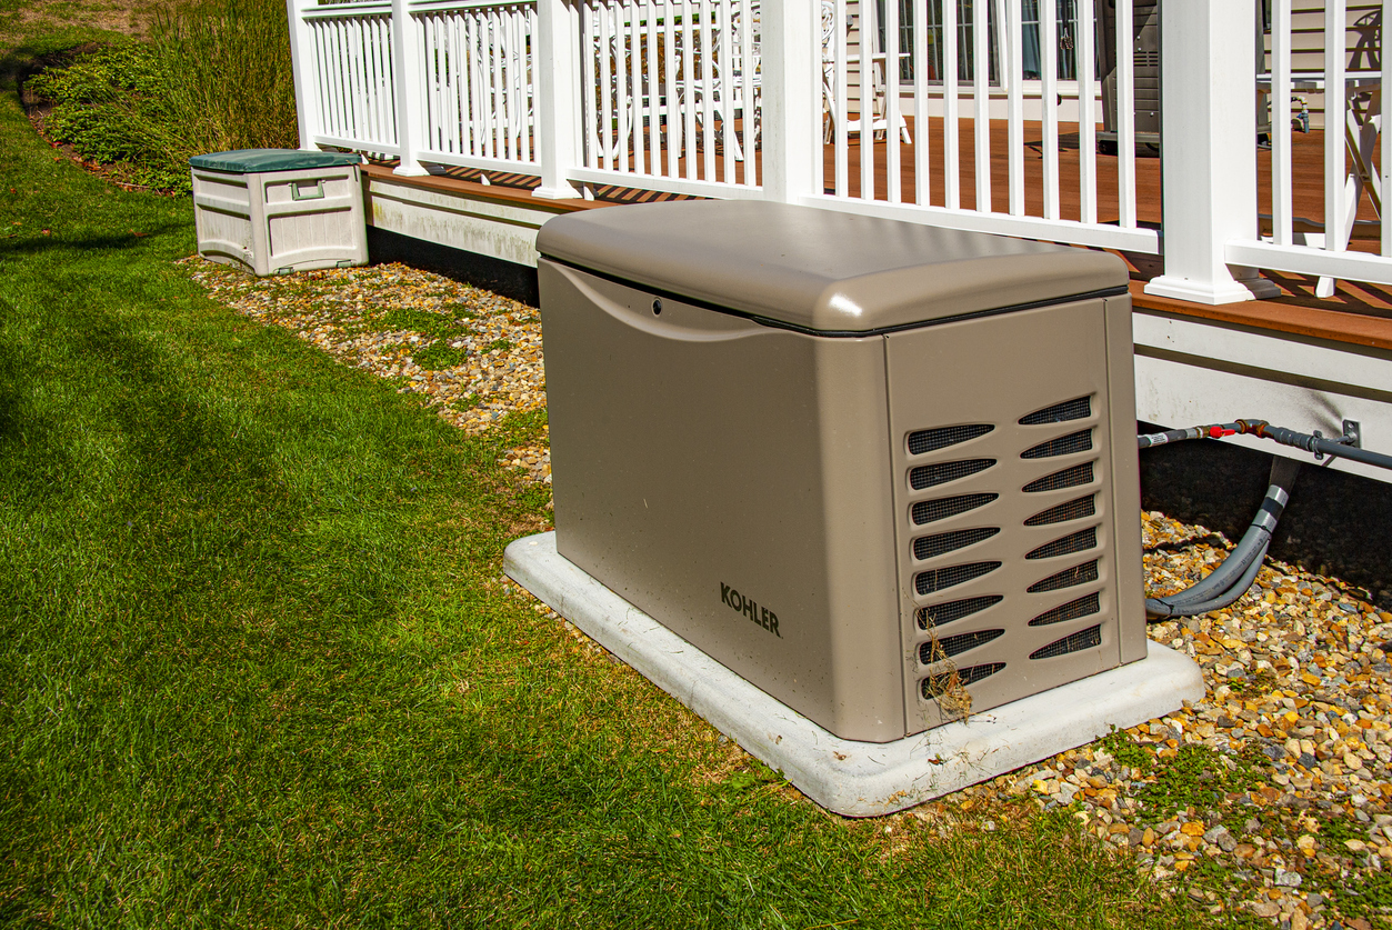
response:
M1125 1L1114 22L1118 159L1105 182L1101 0L891 0L885 22L859 0L288 4L302 143L398 156L402 174L529 173L550 198L604 184L766 198L1130 252L1161 252L1164 241L1164 274L1147 291L1207 304L1274 294L1257 269L1392 284L1388 221L1378 253L1347 249L1359 199L1381 207L1392 90L1385 60L1377 74L1346 70L1346 0L1328 0L1329 52L1314 77L1292 74L1292 0L1274 0L1261 78L1272 100L1270 207L1256 194L1258 63L1242 39L1260 35L1256 0L1165 0L1162 232L1137 221ZM1325 95L1332 235L1293 216L1289 102L1302 81L1347 89ZM1002 104L1004 152L990 132ZM1026 113L1041 129L1030 148ZM1076 159L1063 142L1073 135ZM992 157L1006 166L1001 210Z

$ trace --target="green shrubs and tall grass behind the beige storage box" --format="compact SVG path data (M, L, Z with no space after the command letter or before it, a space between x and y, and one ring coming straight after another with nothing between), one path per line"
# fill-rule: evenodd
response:
M191 156L298 145L283 3L189 4L161 13L153 33L31 78L53 104L54 141L135 184L185 192Z

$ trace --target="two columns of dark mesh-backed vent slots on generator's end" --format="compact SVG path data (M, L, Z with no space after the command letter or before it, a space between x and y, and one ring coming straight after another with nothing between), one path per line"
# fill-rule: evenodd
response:
M912 647L915 652L910 661L916 659L915 664L922 671L910 681L919 682L924 699L945 702L947 709L942 713L948 717L956 713L954 709L960 700L970 702L969 698L965 698L965 688L1001 672L1008 661L1013 661L1013 656L1029 654L1030 659L1050 659L1096 649L1101 643L1101 628L1107 625L1107 618L1102 614L1102 596L1097 590L1097 582L1102 575L1105 555L1101 546L1105 540L1097 525L1097 515L1104 511L1100 494L1105 493L1105 473L1098 471L1102 465L1096 452L1100 443L1098 425L1094 419L1098 415L1097 408L1097 395L1086 394L1034 409L1018 418L1002 418L994 426L976 423L919 429L906 433L905 441L910 455L908 461L915 462L912 458L915 455L922 457L919 461L927 459L917 465L909 465L909 486L922 491L923 489L935 490L935 486L948 482L959 482L954 487L962 489L956 494L937 491L938 496L933 500L910 500L912 526L927 529L924 525L952 518L956 518L956 526L972 521L962 529L947 523L940 532L919 529L916 530L917 536L909 535L909 549L913 557L913 561L909 562L909 571L913 572L915 593L924 600L927 597L948 599L940 604L915 606L917 629L913 631ZM976 446L954 448L973 440L979 440ZM1102 444L1105 446L1105 443ZM1013 450L1023 448L1023 452L1011 451L1008 455L1018 454L1016 461L1034 471L1037 478L1029 476L1026 472L1018 479L1018 483L1009 482L1011 489L1002 487L1001 483L1005 479L1004 476L997 478L997 473L1005 469L992 469L1004 458L999 452L1002 446L1013 447ZM979 448L979 457L969 458L965 454L966 448L973 451ZM1075 457L1073 462L1055 464L1051 461L1065 455ZM942 458L952 461L934 461ZM1080 458L1089 461L1077 461ZM1100 479L1101 484L1098 484ZM1068 489L1076 490L1072 494L1057 493ZM933 490L928 490L924 496L931 493ZM1011 518L1008 525L1001 525L999 518L987 517L987 514L994 515L1001 511L998 501L1002 500L1006 510L1013 510L1016 504L1009 503L1012 494L1047 493L1055 493L1054 500L1040 501L1034 507L1029 505L1030 498L1020 500L1020 515ZM992 505L991 510L979 510L988 504ZM903 519L902 514L903 511L901 511L901 521ZM963 514L967 517L962 517ZM981 526L981 523L991 522L997 526ZM1055 525L1059 529L1048 533L1047 528ZM1043 532L1047 533L1044 536L1047 542L1038 539L1040 529L1037 528L1045 528ZM1055 539L1050 539L1050 536ZM976 561L966 562L966 551L970 551ZM1027 554L1020 558L1022 553ZM948 561L949 558L959 564L913 571L917 567L916 562L924 560ZM1090 558L1090 561L1073 564L1062 571L1057 565L1036 569L1045 574L1043 578L1040 575L1020 578L1016 574L1023 567L1038 565L1041 560L1057 560L1066 564L1077 562L1079 558ZM1004 567L1009 567L1009 571L1005 571ZM992 575L992 572L995 574ZM1030 585L1030 581L1034 583ZM958 590L956 586L966 586L967 582L976 582L973 585L976 590L988 586L986 590L995 589L998 593L952 597ZM1036 597L1036 601L1045 600L1040 606L1036 606L1036 601L1019 603L1025 597L1041 596L1048 592L1059 592L1051 597L1057 606L1050 606L1044 597ZM990 614L981 613L988 608L992 608ZM1030 617L1033 620L1029 620ZM969 620L963 621L963 618ZM958 621L962 621L959 626L963 632L945 633L945 629L956 628L947 626L944 629L944 626ZM1090 624L1090 628L1073 631L1070 626L1076 624L1070 624L1058 629L1055 635L1062 638L1047 646L1034 649L1036 643L1030 643L1020 647L1019 638L1025 635L1026 629L1069 621L1082 621ZM1030 653L1030 649L1034 652ZM965 667L954 671L952 665L958 661L962 661ZM1066 663L1065 659L1057 661ZM1025 667L1020 665L1020 668ZM1008 674L1006 671L992 681L999 682ZM983 688L987 686L983 685ZM994 693L994 691L983 693Z

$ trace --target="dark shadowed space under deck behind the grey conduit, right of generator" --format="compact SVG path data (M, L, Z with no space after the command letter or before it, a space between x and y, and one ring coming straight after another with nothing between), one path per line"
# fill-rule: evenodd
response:
M1143 433L1161 427L1139 426ZM1274 448L1279 448L1274 446ZM1289 450L1295 451L1295 450ZM1321 468L1303 455L1271 554L1366 588L1392 608L1392 484ZM1141 507L1236 542L1267 493L1271 455L1214 440L1140 454Z

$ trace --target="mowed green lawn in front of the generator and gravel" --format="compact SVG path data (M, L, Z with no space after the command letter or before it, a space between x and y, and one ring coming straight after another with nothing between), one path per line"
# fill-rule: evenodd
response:
M210 304L189 202L13 86L0 205L0 924L1210 926L1066 813L848 821L721 745L500 585L539 416Z

